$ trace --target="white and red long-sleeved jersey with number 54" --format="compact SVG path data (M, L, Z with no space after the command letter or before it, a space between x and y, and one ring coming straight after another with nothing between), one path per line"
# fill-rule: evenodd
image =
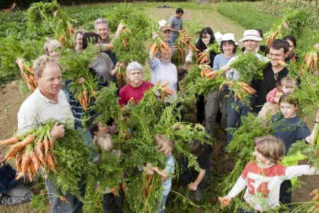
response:
M267 211L280 205L281 182L301 175L313 175L310 165L285 167L276 164L261 168L256 162L250 162L228 195L236 197L246 187L244 195L246 202L258 211Z

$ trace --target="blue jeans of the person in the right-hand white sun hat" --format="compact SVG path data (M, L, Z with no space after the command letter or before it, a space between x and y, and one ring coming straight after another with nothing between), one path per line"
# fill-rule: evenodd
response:
M250 108L241 102L240 99L235 99L229 94L229 98L226 100L227 104L227 125L226 128L234 128L241 126L241 117L248 116ZM227 144L231 141L231 133L227 131Z

